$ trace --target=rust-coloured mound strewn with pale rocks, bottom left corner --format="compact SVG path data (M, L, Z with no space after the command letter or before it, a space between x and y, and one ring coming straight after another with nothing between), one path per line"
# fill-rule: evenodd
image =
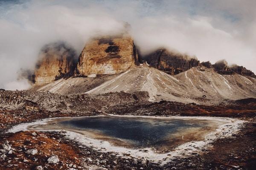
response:
M81 166L78 151L72 146L47 133L36 132L37 136L33 136L32 133L18 132L1 135L0 142L6 156L0 159L0 169L58 170L67 169L69 164ZM10 150L12 150L11 153Z

